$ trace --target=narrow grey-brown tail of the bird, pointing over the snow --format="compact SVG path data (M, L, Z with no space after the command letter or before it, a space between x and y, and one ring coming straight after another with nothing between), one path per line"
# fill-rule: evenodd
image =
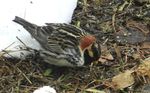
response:
M36 33L35 31L38 28L37 25L32 24L32 23L30 23L30 22L26 21L25 19L20 18L18 16L16 16L13 21L22 25L31 35L35 34Z

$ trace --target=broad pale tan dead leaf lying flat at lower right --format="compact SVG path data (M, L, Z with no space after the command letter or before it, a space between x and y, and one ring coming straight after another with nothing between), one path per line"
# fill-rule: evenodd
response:
M134 77L132 76L132 73L133 73L132 70L127 70L124 73L121 73L113 77L112 83L114 85L114 88L123 89L134 84L135 80Z

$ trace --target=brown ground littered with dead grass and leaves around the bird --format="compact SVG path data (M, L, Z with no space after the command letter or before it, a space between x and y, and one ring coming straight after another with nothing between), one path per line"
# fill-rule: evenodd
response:
M71 24L100 40L98 62L67 68L0 56L0 93L44 85L58 93L150 93L150 0L79 0Z

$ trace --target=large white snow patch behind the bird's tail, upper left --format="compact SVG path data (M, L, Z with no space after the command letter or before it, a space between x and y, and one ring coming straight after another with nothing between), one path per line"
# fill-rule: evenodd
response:
M69 23L76 8L77 0L1 0L0 1L0 51L18 51L23 44L34 49L41 49L37 41L20 25L12 20L22 17L31 23ZM26 52L23 52L26 53ZM20 57L20 52L11 53Z

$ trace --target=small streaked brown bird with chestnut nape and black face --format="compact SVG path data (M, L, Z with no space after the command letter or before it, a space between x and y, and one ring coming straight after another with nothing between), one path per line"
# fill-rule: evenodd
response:
M97 61L101 55L96 37L71 24L37 26L18 16L13 21L22 25L39 42L42 47L39 54L47 63L81 67Z

